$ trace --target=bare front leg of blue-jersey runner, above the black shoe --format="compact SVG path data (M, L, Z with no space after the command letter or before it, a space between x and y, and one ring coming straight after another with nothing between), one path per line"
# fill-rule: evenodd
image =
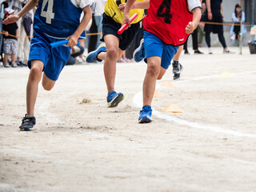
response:
M38 96L38 83L42 78L42 70L42 61L31 62L30 75L26 85L26 114L28 115L34 115L34 105Z

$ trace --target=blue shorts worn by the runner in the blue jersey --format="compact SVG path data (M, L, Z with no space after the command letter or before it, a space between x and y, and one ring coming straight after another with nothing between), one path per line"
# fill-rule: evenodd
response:
M40 60L44 65L44 73L47 78L53 81L58 79L63 67L70 58L69 46L58 46L50 48L51 42L58 42L59 39L50 38L41 32L34 30L30 44L29 68L32 60Z

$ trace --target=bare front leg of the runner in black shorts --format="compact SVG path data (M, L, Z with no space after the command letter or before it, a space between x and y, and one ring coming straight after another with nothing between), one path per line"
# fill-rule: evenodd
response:
M123 50L118 48L119 38L112 34L104 37L106 43L106 58L104 62L104 75L106 80L106 88L108 93L114 90L114 79L116 74L116 62L123 54Z

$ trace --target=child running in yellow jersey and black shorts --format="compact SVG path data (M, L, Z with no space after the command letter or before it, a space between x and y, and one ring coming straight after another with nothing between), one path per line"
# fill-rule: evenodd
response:
M139 29L139 22L143 18L144 10L134 9L130 11L129 16L137 13L138 17L134 19L130 28L122 34L118 34L118 30L122 26L122 11L118 9L126 0L107 0L102 21L101 41L105 42L98 46L97 50L90 52L86 58L86 62L101 62L104 60L104 75L107 88L107 107L116 107L122 102L124 95L114 90L114 79L116 74L116 63L122 57L125 50L135 38ZM134 1L135 2L135 1ZM143 2L137 0L136 2Z

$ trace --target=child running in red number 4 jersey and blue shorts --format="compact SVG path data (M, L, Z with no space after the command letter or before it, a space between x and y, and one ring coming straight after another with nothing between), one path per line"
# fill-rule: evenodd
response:
M127 0L123 22L130 26L129 12L135 0ZM201 18L200 0L147 0L149 10L143 18L144 49L147 62L143 82L143 107L138 122L151 122L151 103L155 83L170 66L171 59L196 29ZM146 8L146 7L145 7Z

